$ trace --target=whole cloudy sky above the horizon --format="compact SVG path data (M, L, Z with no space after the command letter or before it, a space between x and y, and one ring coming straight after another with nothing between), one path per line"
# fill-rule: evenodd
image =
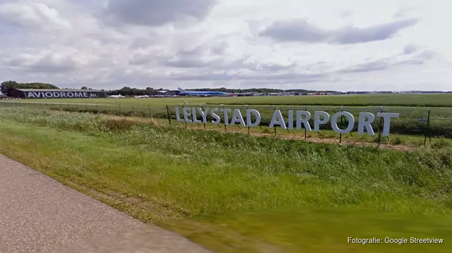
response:
M0 0L1 81L452 90L444 0Z

